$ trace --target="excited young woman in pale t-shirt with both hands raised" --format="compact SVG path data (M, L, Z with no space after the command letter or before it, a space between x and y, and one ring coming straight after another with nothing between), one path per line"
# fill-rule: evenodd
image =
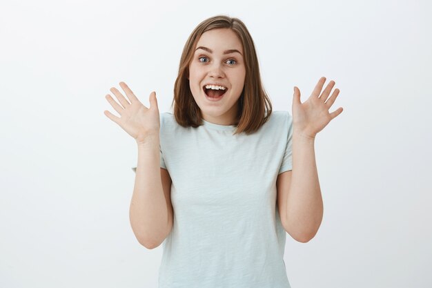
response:
M293 117L272 111L253 39L236 18L212 17L181 55L173 114L155 93L146 108L130 88L111 88L121 115L105 115L138 145L130 223L148 249L164 244L159 288L290 287L286 233L308 242L320 227L315 135L329 113L322 77L309 99L294 88Z

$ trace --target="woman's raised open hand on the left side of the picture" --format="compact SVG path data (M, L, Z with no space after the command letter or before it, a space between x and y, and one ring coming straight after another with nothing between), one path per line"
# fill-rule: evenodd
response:
M150 107L147 108L139 102L139 99L124 82L120 82L119 84L130 102L121 95L119 90L112 87L110 91L117 97L121 105L115 102L111 95L107 94L105 97L121 117L113 115L110 111L104 111L106 117L119 124L124 131L137 141L137 144L146 143L150 137L157 137L159 139L160 120L156 93L150 93Z

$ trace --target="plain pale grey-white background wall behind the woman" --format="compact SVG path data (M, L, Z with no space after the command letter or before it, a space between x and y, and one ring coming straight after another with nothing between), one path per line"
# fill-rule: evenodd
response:
M320 77L344 111L315 140L324 219L288 234L293 288L432 287L429 1L2 1L0 287L157 287L132 233L137 147L104 115L125 81L170 111L197 24L239 17L275 111Z

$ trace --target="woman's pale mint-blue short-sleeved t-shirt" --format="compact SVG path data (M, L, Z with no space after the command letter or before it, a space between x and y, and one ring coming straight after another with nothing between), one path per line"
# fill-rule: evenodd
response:
M251 135L161 113L161 167L172 182L173 229L159 288L289 288L277 175L292 169L292 117L273 111Z

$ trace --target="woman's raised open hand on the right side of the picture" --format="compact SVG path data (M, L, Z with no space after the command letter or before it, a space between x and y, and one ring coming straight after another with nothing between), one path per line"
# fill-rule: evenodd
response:
M339 107L332 113L328 112L328 109L330 109L335 102L340 90L336 88L331 97L328 97L333 86L335 86L335 81L330 81L321 93L322 86L324 86L325 82L326 77L321 77L311 97L304 103L300 102L299 88L297 88L297 86L294 87L293 128L295 133L300 133L305 137L315 139L317 133L322 131L333 118L340 115L344 110L342 107Z

